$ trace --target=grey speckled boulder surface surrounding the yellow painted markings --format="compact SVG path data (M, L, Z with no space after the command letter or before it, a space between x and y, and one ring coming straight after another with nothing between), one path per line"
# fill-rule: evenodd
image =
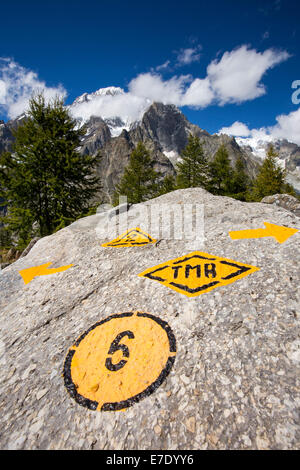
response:
M228 235L265 221L300 228L299 217L198 188L145 204L158 203L204 204L204 241L103 248L112 229L99 238L102 213L42 238L1 271L2 449L299 449L299 233L283 244ZM260 270L194 298L138 277L194 250ZM24 284L18 271L48 262L73 266ZM96 322L136 310L173 330L170 374L127 411L80 406L62 378L69 348Z

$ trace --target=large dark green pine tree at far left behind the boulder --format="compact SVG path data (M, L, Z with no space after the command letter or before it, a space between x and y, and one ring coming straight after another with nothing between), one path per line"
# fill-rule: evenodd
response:
M0 156L0 196L8 206L5 223L18 234L19 245L84 215L100 189L93 171L99 156L79 153L85 130L76 127L60 99L46 104L37 95L15 131L13 153Z

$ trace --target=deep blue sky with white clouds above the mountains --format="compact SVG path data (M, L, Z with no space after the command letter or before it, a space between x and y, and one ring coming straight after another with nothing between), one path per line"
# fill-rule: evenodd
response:
M167 96L175 86L175 104L211 133L236 121L248 129L273 129L279 115L292 115L281 127L300 123L295 114L299 106L291 100L291 85L300 80L300 4L295 0L5 2L0 57L5 58L0 60L0 119L4 120L26 107L31 85L25 93L22 79L27 74L28 83L28 73L33 72L33 88L35 83L54 90L61 85L68 104L84 92L112 85L143 95L147 87L163 86ZM259 78L247 83L256 59ZM243 72L238 87L244 88L237 96L226 84L226 74L234 73L229 70L234 60ZM8 77L10 63L18 73ZM201 85L206 95L205 86L208 94L213 86L214 96L199 98L199 92L195 107L192 90L188 99L183 89L207 77L209 83L197 82L193 90ZM229 75L228 80L237 88L234 77ZM156 100L162 92L157 93L152 93Z

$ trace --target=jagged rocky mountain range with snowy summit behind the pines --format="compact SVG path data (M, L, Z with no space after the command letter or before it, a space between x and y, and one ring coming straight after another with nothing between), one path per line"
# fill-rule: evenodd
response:
M93 155L100 151L102 154L99 174L108 197L139 141L151 151L155 168L162 175L175 173L176 162L190 134L200 137L208 159L224 144L233 164L241 157L249 176L254 177L257 173L271 137L251 139L211 135L189 122L175 105L152 103L142 97L136 97L133 105L132 96L128 99L128 95L129 92L119 87L100 88L94 93L82 94L68 106L78 120L78 126L86 126L81 142L82 153ZM0 153L11 149L12 130L21 124L22 119L0 123ZM279 162L287 170L287 180L300 192L300 147L284 140L274 144Z

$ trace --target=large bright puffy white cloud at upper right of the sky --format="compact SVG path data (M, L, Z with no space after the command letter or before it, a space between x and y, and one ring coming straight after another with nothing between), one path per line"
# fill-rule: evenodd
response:
M286 51L267 49L257 52L248 46L225 52L219 61L214 60L207 67L218 102L221 105L242 103L264 95L266 88L261 83L262 76L289 57Z

